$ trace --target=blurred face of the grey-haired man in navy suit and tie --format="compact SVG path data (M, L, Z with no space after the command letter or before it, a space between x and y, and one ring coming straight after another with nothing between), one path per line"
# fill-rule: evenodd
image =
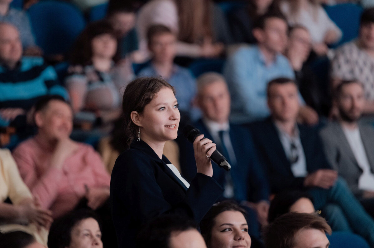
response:
M230 116L230 93L225 82L205 85L198 95L198 105L209 120L223 123Z

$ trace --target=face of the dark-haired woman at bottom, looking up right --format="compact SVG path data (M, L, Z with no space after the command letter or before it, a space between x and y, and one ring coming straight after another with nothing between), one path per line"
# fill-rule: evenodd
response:
M239 211L224 211L214 219L211 244L214 248L249 248L248 224Z

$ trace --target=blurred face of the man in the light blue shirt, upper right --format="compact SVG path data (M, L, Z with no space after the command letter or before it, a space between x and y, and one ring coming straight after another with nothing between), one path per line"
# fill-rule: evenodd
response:
M258 39L267 49L274 53L283 53L287 46L287 23L279 18L269 18Z

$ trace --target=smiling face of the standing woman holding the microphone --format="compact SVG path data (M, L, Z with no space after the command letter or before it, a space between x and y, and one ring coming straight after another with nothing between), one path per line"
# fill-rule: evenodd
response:
M177 99L170 88L164 87L139 115L140 138L153 143L176 139L179 120Z

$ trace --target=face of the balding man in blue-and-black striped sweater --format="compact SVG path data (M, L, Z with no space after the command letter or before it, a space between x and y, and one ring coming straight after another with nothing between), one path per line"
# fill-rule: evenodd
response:
M22 44L18 30L11 26L0 25L0 60L3 63L17 63L22 56Z

